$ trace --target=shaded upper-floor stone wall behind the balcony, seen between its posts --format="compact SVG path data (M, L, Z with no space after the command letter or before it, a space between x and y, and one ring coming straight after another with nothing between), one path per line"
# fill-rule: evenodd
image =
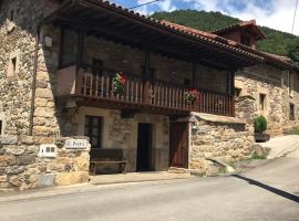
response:
M116 44L105 39L86 36L84 43L84 62L92 64L94 59L102 61L107 70L122 70L126 74L142 75L145 52L135 48ZM185 80L192 82L193 64L151 53L150 66L157 80L171 81L184 85ZM227 73L197 64L195 87L225 93Z

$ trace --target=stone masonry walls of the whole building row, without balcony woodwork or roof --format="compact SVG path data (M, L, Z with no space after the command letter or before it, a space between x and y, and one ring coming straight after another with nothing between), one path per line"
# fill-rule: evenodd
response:
M90 146L84 150L65 147L69 137L87 139L83 137L85 115L103 117L102 146L123 149L128 171L136 169L137 125L152 124L154 169L167 170L169 116L137 113L131 118L122 118L121 110L58 101L61 29L52 25L41 28L37 57L35 43L39 22L61 2L4 0L0 6L0 188L24 190L89 181ZM47 44L47 38L51 39L51 45ZM95 59L103 62L106 69L136 75L142 73L144 53L137 49L89 35L84 51L86 64ZM33 85L35 59L37 82ZM192 63L158 54L151 54L151 69L156 78L177 84L185 84L186 80L193 77ZM194 85L225 93L227 74L198 65ZM254 143L254 115L264 114L267 117L272 135L297 125L299 80L297 74L292 74L293 81L289 77L289 73L269 65L239 71L236 87L241 93L236 98L236 117L193 113L196 122L190 127L189 168L208 173L207 158L235 161L249 156ZM290 85L290 82L295 84ZM259 94L266 95L262 112L259 108ZM289 119L290 104L295 104L295 120ZM39 156L40 145L44 144L56 145L56 158Z

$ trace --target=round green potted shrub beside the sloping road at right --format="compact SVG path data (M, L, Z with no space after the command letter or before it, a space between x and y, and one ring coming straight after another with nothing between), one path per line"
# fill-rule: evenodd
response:
M270 139L270 135L265 133L267 129L267 119L262 115L254 118L254 126L257 143L264 143Z

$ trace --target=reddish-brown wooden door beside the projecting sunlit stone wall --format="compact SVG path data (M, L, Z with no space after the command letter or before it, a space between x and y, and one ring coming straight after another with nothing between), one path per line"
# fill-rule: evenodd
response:
M171 167L188 168L188 123L171 124Z

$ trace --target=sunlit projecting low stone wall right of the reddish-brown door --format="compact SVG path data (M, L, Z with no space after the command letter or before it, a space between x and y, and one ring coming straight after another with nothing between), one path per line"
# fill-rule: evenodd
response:
M189 169L209 175L210 159L226 164L249 157L252 152L254 129L245 122L193 113L196 123L190 128Z

